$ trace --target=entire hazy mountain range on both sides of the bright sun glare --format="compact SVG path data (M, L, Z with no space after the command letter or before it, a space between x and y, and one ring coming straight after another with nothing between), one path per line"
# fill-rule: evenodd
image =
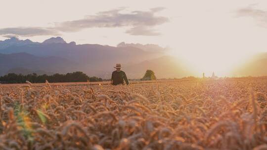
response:
M184 61L167 55L168 48L156 44L121 42L116 47L99 44L67 43L63 38L44 42L12 37L0 41L0 75L38 75L82 71L89 76L110 78L116 63L123 65L128 78L141 78L147 69L158 78L195 75ZM267 53L253 56L233 72L235 76L267 75Z

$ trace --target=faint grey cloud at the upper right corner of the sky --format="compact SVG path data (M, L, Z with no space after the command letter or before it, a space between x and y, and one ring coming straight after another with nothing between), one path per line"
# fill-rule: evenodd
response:
M241 8L237 11L237 17L251 17L256 20L260 26L267 27L267 11L255 8L256 4Z

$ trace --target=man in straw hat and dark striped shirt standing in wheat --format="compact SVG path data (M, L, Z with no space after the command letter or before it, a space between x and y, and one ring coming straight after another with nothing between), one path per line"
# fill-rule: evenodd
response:
M126 84L129 84L128 78L125 74L125 72L121 71L121 64L116 64L116 71L112 72L111 76L111 84L112 85L119 85L119 84L124 84L124 80Z

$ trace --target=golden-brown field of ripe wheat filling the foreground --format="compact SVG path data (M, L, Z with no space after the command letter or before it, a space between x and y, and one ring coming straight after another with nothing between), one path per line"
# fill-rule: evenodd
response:
M267 80L0 86L0 150L267 150Z

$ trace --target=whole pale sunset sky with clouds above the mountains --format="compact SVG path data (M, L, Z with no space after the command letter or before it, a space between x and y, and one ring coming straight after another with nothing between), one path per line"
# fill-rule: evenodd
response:
M221 76L267 51L266 29L266 0L4 0L0 9L0 40L153 43Z

